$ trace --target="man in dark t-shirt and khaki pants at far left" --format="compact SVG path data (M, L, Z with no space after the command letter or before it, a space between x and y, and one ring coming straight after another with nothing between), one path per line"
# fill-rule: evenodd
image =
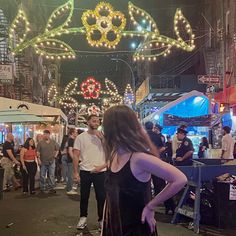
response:
M3 177L3 190L7 191L7 184L13 182L15 189L21 187L20 183L17 181L13 165L20 165L20 162L16 159L14 153L14 136L12 133L7 134L7 138L2 148L3 158L1 159L1 166L4 169Z

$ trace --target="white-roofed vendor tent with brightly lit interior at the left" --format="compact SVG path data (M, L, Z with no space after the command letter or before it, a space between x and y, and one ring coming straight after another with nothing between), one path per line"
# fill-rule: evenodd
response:
M9 109L26 111L31 115L41 117L43 122L23 122L24 124L22 122L11 122L12 124L9 125L0 121L0 142L4 141L3 132L6 133L9 129L19 136L20 144L24 142L25 135L36 139L37 135L42 134L45 129L50 130L55 141L61 142L67 126L67 117L61 109L0 97L0 110Z

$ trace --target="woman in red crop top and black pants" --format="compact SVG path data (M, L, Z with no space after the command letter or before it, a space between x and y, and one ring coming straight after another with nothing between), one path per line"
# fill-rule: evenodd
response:
M35 194L35 175L37 172L37 152L32 138L27 138L20 151L23 193Z

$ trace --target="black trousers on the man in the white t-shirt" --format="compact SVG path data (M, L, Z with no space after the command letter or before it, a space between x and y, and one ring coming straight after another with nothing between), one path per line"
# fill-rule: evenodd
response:
M80 217L88 215L88 200L91 184L93 183L97 200L98 221L102 220L103 206L105 202L105 172L91 173L90 171L80 170Z

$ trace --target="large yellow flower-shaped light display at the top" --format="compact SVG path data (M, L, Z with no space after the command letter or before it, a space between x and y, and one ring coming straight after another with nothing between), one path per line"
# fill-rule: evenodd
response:
M88 43L96 47L115 48L126 26L124 14L114 11L112 5L106 2L100 2L94 11L84 12L82 22L86 28Z

